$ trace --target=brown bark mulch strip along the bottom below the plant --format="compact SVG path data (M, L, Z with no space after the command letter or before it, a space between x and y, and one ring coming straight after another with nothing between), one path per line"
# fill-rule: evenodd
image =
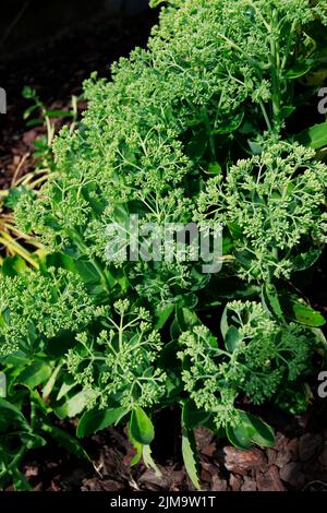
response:
M291 418L266 411L277 429L274 449L240 451L217 440L207 430L197 431L201 479L209 491L327 490L327 408L316 403L305 415ZM161 413L166 436L158 432L154 455L161 477L143 465L130 469L130 448L123 432L114 428L86 441L92 464L81 464L57 448L29 456L25 474L35 490L48 491L185 491L193 487L174 453L178 433L172 411ZM178 425L178 422L175 422ZM171 429L168 430L168 427ZM169 433L169 436L167 436Z

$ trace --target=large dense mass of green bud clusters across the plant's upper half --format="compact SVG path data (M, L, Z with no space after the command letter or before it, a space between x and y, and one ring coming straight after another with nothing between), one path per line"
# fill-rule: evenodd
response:
M95 74L85 84L83 130L65 129L55 144L64 172L41 201L19 211L20 224L53 249L76 238L72 228L84 232L93 222L101 235L124 211L162 219L158 203L177 187L192 198L207 160L218 158L219 147L222 155L229 150L238 129L255 134L266 120L276 131L291 94L284 69L301 44L294 27L314 12L305 0L294 9L275 3L185 1L178 11L164 10L147 50L113 65L111 82ZM271 40L278 70L269 61ZM84 250L104 252L92 227Z

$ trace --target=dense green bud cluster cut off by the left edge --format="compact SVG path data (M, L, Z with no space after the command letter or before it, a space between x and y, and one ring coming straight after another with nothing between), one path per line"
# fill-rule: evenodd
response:
M93 319L93 306L78 276L49 267L0 281L1 355L35 350L61 331L78 332Z

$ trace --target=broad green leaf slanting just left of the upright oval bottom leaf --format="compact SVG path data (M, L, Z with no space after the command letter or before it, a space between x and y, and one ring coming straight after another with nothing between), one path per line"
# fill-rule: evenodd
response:
M78 438L88 437L89 434L117 423L128 413L129 410L126 408L94 408L89 411L85 411L78 422L76 434Z

